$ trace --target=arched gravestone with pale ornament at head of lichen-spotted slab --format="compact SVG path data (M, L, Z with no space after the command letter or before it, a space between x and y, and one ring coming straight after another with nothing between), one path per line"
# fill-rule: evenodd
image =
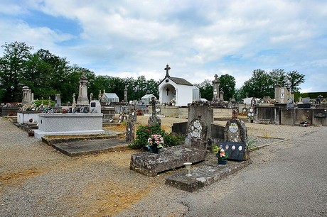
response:
M207 149L207 130L208 126L201 116L194 118L188 125L187 137L185 139L185 145L198 148Z

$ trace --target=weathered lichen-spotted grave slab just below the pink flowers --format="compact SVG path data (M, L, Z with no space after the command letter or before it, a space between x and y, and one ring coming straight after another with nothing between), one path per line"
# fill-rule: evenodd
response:
M186 145L164 148L159 154L141 152L131 155L130 169L148 177L155 177L159 172L183 167L184 162L201 162L207 154L207 150Z

